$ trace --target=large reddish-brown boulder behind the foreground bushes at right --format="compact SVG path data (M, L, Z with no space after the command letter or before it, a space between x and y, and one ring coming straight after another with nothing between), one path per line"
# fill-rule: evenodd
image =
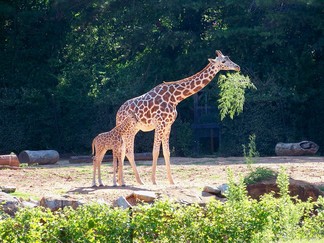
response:
M259 199L261 195L270 192L274 192L275 196L279 197L279 188L275 179L250 184L247 186L247 191L254 199ZM311 183L294 179L289 179L289 191L291 196L298 196L302 201L307 201L308 198L316 201L319 196L324 196L324 193Z

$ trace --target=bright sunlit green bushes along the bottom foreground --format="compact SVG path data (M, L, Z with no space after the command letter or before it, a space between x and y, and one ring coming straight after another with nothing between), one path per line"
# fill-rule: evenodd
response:
M52 213L20 210L14 218L0 214L2 242L283 242L324 239L324 198L292 200L288 176L277 178L280 197L247 196L241 178L229 173L228 201L206 207L169 201L130 210L88 205ZM0 211L1 212L1 211ZM14 230L13 230L14 229Z

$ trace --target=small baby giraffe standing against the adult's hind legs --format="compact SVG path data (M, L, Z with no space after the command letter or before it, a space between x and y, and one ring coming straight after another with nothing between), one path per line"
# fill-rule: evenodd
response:
M112 150L113 154L113 185L116 184L116 171L118 167L118 184L125 186L123 166L125 159L125 141L127 134L131 134L130 130L134 130L137 119L135 114L130 114L122 124L114 127L109 132L100 133L93 139L92 154L93 154L93 180L92 186L96 187L96 171L98 170L99 186L103 186L101 181L100 166L103 157L108 150ZM117 166L118 160L118 166Z

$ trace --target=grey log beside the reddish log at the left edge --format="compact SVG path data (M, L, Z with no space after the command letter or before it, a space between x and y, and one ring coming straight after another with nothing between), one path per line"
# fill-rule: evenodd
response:
M18 158L20 163L46 165L55 164L60 159L60 155L55 150L24 150Z

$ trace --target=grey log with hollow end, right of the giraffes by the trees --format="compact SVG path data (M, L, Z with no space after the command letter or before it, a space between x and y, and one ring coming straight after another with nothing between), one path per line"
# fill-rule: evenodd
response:
M278 156L302 156L314 155L319 146L311 141L302 141L299 143L277 143L275 147Z

